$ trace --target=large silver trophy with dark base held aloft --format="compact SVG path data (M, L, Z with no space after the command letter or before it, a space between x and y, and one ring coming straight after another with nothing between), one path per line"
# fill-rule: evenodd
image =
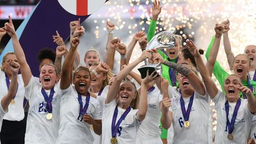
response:
M175 47L175 31L162 31L161 33L156 34L151 41L149 41L148 46L146 49L173 49ZM161 63L149 63L148 59L145 59L145 65L141 66L138 71L140 72L140 75L142 78L146 77L146 73L149 70L149 75L153 71L156 71L159 73L159 75L162 75L162 67Z

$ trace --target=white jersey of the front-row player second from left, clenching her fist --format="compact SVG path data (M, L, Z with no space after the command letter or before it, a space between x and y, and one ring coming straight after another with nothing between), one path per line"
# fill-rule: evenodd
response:
M85 102L86 96L82 95L83 107ZM90 126L79 115L80 105L75 86L70 85L62 90L60 103L59 137L56 143L92 143L94 138L90 132ZM87 114L94 120L101 120L100 104L97 99L90 97Z

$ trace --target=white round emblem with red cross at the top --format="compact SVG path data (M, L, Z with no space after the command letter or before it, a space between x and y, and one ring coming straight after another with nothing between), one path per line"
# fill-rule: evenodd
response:
M66 11L73 15L90 15L105 4L105 0L58 0Z

